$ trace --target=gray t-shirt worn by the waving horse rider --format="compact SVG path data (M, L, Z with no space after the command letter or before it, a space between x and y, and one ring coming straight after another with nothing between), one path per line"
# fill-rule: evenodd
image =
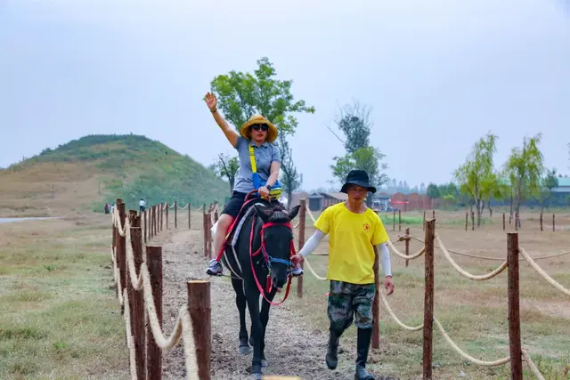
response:
M248 193L255 190L253 186L253 172L251 171L251 162L249 161L249 145L253 146L254 155L256 156L257 173L261 181L265 182L269 178L271 171L271 163L273 161L281 164L281 151L272 143L265 141L261 146L256 146L253 141L238 137L235 149L238 150L238 159L240 160L240 169L236 175L233 190Z

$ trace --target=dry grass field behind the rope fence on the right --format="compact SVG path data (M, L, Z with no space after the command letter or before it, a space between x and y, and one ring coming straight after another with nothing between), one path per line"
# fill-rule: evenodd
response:
M428 213L431 215L431 212ZM314 215L317 217L318 215ZM522 214L522 230L519 231L519 245L533 256L557 254L569 251L570 214L558 214L559 231L540 231L534 217ZM411 234L422 239L421 214L405 215L408 221L418 221L405 227L411 228ZM474 255L506 258L507 237L502 231L502 214L495 213L493 220L487 220L479 230L464 230L464 213L446 213L436 211L436 232L444 242L444 246ZM392 215L382 218L393 241L398 231L393 231ZM462 222L457 222L461 221ZM389 221L389 222L388 222ZM470 222L470 221L469 221ZM305 239L314 232L312 222L307 215ZM403 227L404 229L404 227ZM511 231L509 225L508 231ZM328 238L315 252L327 252ZM396 243L401 252L403 243ZM411 241L411 254L419 251L420 243ZM396 316L409 326L419 326L423 322L424 300L424 260L423 256L412 261L408 268L404 261L391 255L392 271L395 281L395 294L388 301ZM460 266L473 274L485 274L498 267L500 261L484 261L469 257L453 255ZM326 256L309 256L314 270L324 276L326 273ZM570 287L570 255L545 261L539 261L542 268L550 276L558 280L566 288ZM315 279L305 269L304 298L292 297L299 314L311 319L315 327L327 330L326 314L328 282ZM441 321L448 335L459 347L479 360L497 360L509 355L509 325L507 320L507 271L487 281L473 281L464 278L446 261L441 251L436 249L435 268L435 315ZM533 361L547 379L568 379L570 374L570 299L567 295L551 287L539 274L525 262L520 265L520 308L522 344L531 353ZM372 353L371 368L383 375L415 378L421 376L422 331L409 332L403 330L390 319L384 306L380 305L380 329L382 343L378 352ZM509 364L484 368L463 360L444 337L434 327L435 378L457 378L460 373L465 378L508 379ZM351 327L347 336L355 336L356 330ZM342 345L342 343L341 343ZM525 378L533 378L526 366Z

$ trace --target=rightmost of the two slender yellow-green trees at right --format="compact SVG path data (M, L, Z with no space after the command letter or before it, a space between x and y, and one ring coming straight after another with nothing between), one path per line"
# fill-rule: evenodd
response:
M538 148L541 140L542 133L537 133L530 139L525 137L522 149L513 148L504 166L511 180L517 214L520 214L521 201L529 197L538 197L542 189L541 177L544 166L542 152ZM520 219L517 218L517 227L520 226Z

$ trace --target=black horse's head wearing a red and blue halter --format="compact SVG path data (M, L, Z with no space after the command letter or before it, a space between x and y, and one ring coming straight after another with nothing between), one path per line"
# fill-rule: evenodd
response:
M256 205L257 215L264 222L261 230L262 250L267 257L274 287L281 288L288 278L287 270L291 266L290 257L293 245L293 227L291 221L299 212L295 206L290 212L282 206Z

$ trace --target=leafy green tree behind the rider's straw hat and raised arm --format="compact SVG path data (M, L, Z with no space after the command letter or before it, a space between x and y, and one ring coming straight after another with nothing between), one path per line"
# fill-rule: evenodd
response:
M276 79L277 71L267 57L256 61L254 74L230 71L215 77L210 86L217 93L218 107L236 129L259 113L279 129L279 133L295 134L297 118L294 113L314 113L305 101L295 101L291 93L292 80Z

